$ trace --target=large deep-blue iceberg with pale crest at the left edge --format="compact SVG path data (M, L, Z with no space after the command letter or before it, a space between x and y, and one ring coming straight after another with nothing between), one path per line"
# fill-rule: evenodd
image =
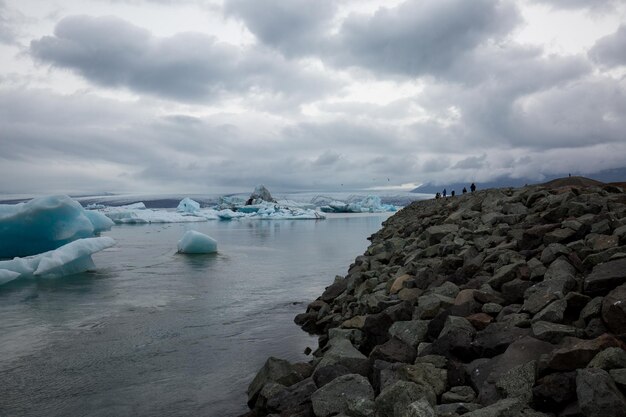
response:
M0 258L56 249L108 230L113 222L85 210L68 196L48 196L20 204L0 204Z

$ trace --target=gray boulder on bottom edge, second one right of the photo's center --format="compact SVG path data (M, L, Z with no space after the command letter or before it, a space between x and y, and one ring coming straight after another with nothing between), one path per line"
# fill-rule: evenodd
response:
M378 417L401 417L409 405L415 401L433 398L432 392L428 390L428 387L419 386L413 382L397 381L376 397L376 415Z

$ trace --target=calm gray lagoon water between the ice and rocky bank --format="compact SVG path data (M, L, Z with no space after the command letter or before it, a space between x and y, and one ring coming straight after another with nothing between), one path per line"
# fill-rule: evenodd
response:
M388 217L116 226L96 272L0 287L0 415L234 416L272 355L306 360L293 317ZM194 229L219 253L176 254Z

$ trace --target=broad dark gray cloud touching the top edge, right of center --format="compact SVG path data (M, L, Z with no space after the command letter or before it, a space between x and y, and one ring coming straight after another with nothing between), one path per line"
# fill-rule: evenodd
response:
M408 0L341 27L335 62L401 75L438 74L460 56L509 33L519 21L506 1Z

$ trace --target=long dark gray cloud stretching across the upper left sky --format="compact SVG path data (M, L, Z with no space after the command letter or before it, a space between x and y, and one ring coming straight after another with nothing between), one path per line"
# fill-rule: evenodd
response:
M198 33L156 38L116 17L72 16L54 36L31 42L37 60L107 87L182 101L228 93L317 96L333 84L263 49L242 49Z

